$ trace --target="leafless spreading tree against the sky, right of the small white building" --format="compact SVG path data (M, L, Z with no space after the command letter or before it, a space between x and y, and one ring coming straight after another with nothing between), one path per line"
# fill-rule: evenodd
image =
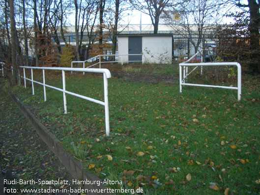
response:
M196 53L202 46L205 33L213 31L220 22L222 18L220 11L223 5L218 0L189 0L175 7L167 20L175 32L191 42ZM177 22L174 21L174 13L179 14ZM192 36L196 36L196 39Z

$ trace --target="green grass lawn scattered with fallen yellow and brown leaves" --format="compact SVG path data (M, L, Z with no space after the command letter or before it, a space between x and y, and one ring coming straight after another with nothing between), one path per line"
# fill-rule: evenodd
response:
M38 81L42 81L41 74ZM242 80L237 91L179 85L126 83L109 79L111 135L105 136L104 107L43 87L14 92L87 170L122 181L144 194L260 193L260 87ZM46 84L62 88L61 72ZM103 101L103 78L66 73L66 89ZM108 185L118 189L118 185Z

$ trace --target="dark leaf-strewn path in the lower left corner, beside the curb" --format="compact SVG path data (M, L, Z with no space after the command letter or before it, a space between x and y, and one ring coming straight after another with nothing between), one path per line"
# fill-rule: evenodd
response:
M4 92L3 85L4 80L0 78L0 167L5 181L5 193L12 190L14 192L14 189L17 190L16 194L24 194L21 193L21 189L39 189L41 192L47 192L41 189L67 188L67 185L54 186L53 182L70 181L71 175L39 139L9 94ZM6 184L15 183L14 181L16 184ZM51 185L41 186L42 181ZM29 194L46 194L38 192Z

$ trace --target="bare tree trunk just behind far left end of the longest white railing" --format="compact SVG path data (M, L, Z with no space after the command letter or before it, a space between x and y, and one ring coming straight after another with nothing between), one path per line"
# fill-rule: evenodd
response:
M12 67L13 67L13 76L12 76L12 84L18 84L18 68L16 61L16 28L15 28L15 18L14 18L14 1L9 0L10 6L10 23L11 23L11 44L12 44Z

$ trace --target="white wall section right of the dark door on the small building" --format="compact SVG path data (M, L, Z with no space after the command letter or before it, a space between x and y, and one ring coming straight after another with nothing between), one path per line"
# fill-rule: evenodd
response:
M172 36L143 36L144 63L172 63Z

